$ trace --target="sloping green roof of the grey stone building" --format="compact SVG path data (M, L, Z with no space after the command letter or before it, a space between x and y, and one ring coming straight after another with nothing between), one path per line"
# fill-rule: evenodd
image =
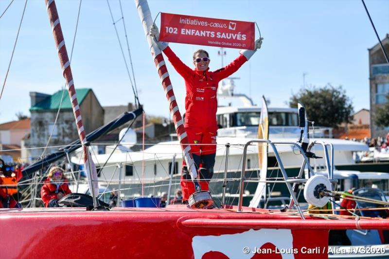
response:
M90 88L80 88L76 89L78 104L84 101L87 97L88 92L91 91ZM65 90L63 94L61 110L62 109L72 109L71 102L68 92ZM62 90L55 92L53 95L47 97L43 101L38 102L33 107L30 108L30 111L44 111L44 110L58 110L59 104L61 102Z

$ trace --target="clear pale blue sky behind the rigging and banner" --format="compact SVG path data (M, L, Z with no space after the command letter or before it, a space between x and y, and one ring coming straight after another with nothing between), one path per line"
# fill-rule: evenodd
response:
M2 13L9 4L0 0ZM109 1L115 20L121 17L119 2ZM68 53L74 35L78 0L56 1ZM380 38L389 33L389 0L367 0L366 5ZM15 0L0 19L0 82L3 84L18 30L24 0ZM140 19L132 0L122 0L124 20L139 90L148 115L169 116L168 104L148 50ZM153 18L158 12L219 19L256 21L265 38L262 48L237 73L235 92L250 95L254 103L262 94L270 107L286 107L292 93L303 84L342 85L354 110L369 109L368 48L378 41L360 0L323 1L162 1L149 0ZM159 19L157 19L159 23ZM121 22L118 30L125 46ZM192 66L192 53L200 46L171 43L171 48ZM209 51L210 67L220 67L219 50ZM225 63L238 55L226 49ZM128 53L125 51L127 61ZM129 62L128 62L129 63ZM92 88L103 106L134 101L123 57L106 0L83 0L71 63L76 88ZM184 111L184 82L168 65L180 111ZM250 76L251 74L251 76ZM30 115L29 92L53 93L64 79L54 46L43 0L29 0L11 69L0 101L0 123L15 120L21 111Z

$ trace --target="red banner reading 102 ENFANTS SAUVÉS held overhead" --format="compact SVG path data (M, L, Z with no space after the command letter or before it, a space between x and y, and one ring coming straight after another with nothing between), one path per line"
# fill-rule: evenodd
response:
M254 49L253 22L161 13L159 40L236 49Z

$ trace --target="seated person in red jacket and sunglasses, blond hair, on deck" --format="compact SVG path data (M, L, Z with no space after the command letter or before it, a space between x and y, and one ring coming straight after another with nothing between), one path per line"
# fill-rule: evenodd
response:
M45 203L45 207L57 207L58 200L70 193L71 190L64 177L64 170L61 167L53 166L40 189L40 197Z

